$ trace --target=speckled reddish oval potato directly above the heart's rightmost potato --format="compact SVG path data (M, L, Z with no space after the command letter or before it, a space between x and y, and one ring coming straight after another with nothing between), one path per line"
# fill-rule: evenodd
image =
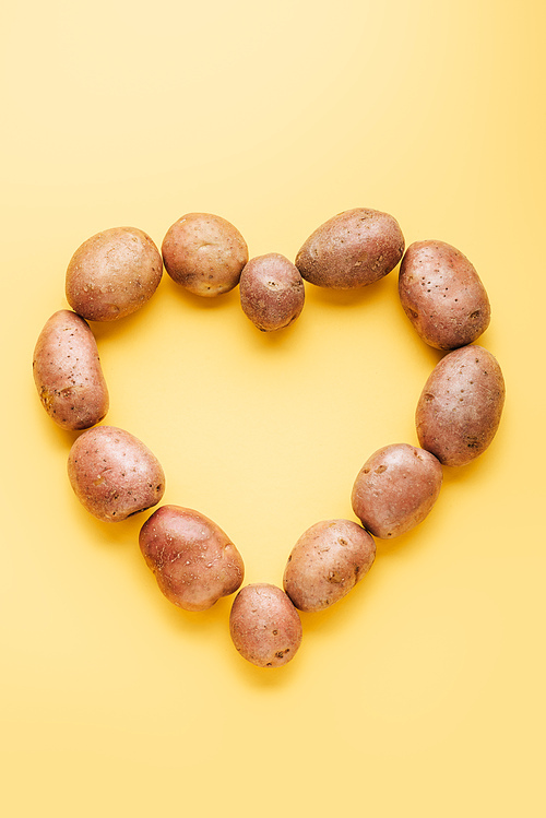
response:
M489 299L468 259L444 241L415 241L402 260L399 294L423 341L454 349L489 325Z

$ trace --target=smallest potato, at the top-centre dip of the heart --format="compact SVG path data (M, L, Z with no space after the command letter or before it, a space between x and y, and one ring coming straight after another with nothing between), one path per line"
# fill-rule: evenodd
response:
M263 332L288 327L304 309L299 271L276 252L258 256L245 265L239 293L242 311Z

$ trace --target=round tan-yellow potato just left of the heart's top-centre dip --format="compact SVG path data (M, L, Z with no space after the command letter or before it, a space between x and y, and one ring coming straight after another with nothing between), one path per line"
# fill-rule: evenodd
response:
M236 287L248 261L239 230L211 213L181 216L167 230L162 252L165 269L177 284L209 297Z

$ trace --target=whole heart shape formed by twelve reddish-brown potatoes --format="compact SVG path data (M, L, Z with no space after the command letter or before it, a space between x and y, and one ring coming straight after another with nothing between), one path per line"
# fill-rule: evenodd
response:
M440 493L442 466L470 463L498 429L502 372L495 357L474 343L490 320L478 274L443 241L417 241L405 253L404 248L396 220L366 208L319 226L294 263L274 252L249 259L239 230L209 213L188 213L175 222L162 252L142 230L116 227L74 252L66 280L72 309L56 312L39 333L33 371L41 404L61 428L82 431L68 459L71 486L98 520L120 522L157 506L165 475L142 441L98 425L109 399L87 321L117 321L138 310L155 293L165 265L177 284L203 297L239 286L245 315L262 332L275 332L301 313L305 281L356 289L402 262L402 307L423 341L446 355L418 401L420 448L385 446L356 476L352 505L359 523L323 520L304 532L288 555L283 589L265 582L241 589L240 553L194 509L162 506L141 527L142 555L174 605L205 610L238 591L229 632L237 651L259 667L289 662L302 637L298 610L322 610L345 596L373 565L373 537L396 537L422 523Z

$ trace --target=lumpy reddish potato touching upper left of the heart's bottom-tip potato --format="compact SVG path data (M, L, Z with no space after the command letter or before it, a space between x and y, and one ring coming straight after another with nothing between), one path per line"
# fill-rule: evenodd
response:
M216 523L180 506L162 506L140 532L140 547L167 600L206 610L242 582L242 558Z

